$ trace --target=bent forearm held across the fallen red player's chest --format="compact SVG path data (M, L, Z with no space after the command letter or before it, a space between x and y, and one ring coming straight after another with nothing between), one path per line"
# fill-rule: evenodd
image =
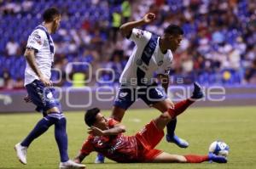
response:
M114 127L108 130L101 130L97 127L90 127L88 133L94 136L109 136L109 135L118 135L119 133L125 132L125 126L121 124L116 124Z

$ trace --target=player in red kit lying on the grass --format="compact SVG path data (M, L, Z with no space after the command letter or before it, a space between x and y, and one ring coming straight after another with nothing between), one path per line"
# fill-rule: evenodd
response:
M81 163L90 152L96 151L117 162L176 162L201 163L214 161L226 163L227 159L221 155L171 155L159 149L154 149L164 137L166 124L176 118L178 114L168 110L150 121L134 136L125 136L125 126L113 119L106 119L98 108L87 110L84 115L89 128L89 137L84 142L79 155L74 161Z

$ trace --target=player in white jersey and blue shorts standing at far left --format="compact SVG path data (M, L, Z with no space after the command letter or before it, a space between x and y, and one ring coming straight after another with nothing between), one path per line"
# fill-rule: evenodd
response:
M61 22L61 13L57 8L48 8L43 14L44 22L38 25L26 45L25 87L29 99L37 105L44 117L32 129L32 132L19 144L15 145L17 156L26 164L26 151L35 138L49 127L55 125L55 140L61 156L60 168L85 168L84 165L69 160L67 155L66 118L61 111L60 102L55 99L55 90L50 82L50 71L54 61L55 47L51 33L55 33Z

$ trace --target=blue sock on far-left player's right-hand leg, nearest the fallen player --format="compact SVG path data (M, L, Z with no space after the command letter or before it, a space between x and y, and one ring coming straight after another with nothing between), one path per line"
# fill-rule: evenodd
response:
M61 117L55 122L55 140L58 144L61 162L66 162L69 160L67 154L67 132L66 132L66 118Z

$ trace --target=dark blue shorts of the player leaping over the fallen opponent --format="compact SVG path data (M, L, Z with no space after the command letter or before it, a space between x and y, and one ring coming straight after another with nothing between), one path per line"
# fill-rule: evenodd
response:
M127 110L137 99L143 99L148 106L152 106L167 99L167 95L165 89L156 83L137 88L121 85L113 105Z

